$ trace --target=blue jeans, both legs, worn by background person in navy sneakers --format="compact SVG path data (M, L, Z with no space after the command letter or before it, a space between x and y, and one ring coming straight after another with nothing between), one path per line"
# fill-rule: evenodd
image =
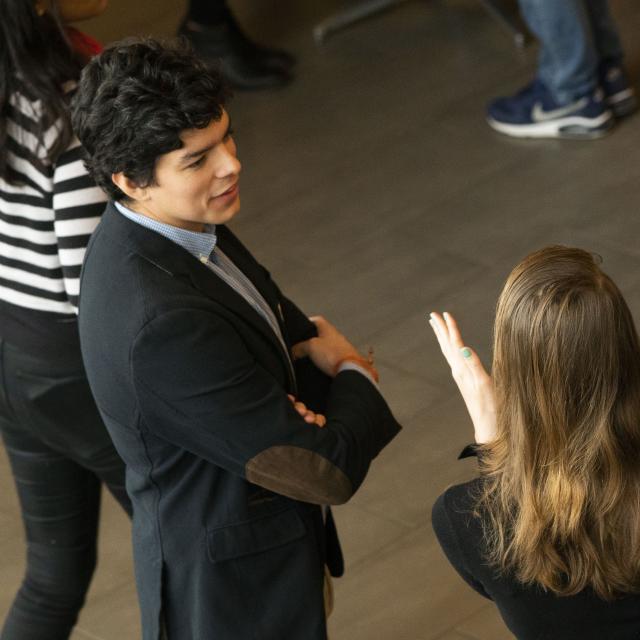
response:
M598 85L602 63L619 64L622 45L607 0L519 0L540 41L538 77L559 104Z

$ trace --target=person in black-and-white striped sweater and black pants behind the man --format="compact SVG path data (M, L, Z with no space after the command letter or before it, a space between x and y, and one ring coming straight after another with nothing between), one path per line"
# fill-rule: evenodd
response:
M102 484L131 513L76 320L85 247L106 196L68 115L97 47L63 25L105 5L0 0L0 431L27 538L2 640L68 638L95 567Z

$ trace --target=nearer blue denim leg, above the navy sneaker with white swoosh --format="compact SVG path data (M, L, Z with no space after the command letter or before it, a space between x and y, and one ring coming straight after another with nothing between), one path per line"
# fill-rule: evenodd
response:
M538 76L555 100L567 104L595 89L598 56L585 0L519 3L525 21L540 42Z

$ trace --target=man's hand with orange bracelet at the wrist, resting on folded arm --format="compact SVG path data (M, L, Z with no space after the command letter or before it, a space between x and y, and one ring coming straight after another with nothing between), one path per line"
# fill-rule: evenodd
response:
M293 346L294 358L309 357L324 374L335 377L344 362L355 362L369 370L377 380L378 372L371 362L327 320L321 316L309 318L318 329L318 337L299 342Z

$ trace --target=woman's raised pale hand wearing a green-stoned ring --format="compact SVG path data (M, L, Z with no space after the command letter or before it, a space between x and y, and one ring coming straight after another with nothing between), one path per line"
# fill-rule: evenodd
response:
M467 405L476 442L491 442L496 437L496 408L491 376L485 371L476 353L464 346L453 316L445 313L443 318L439 313L432 313L429 324Z

